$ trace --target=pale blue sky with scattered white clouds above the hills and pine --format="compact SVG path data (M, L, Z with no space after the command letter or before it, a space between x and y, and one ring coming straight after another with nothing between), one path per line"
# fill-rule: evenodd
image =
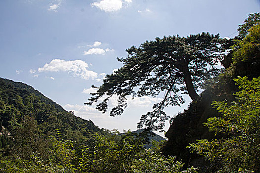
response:
M116 57L156 37L232 38L259 11L260 0L0 0L0 77L34 87L100 128L135 130L160 97L129 99L121 117L83 104L91 85L122 66ZM167 113L174 116L188 102Z

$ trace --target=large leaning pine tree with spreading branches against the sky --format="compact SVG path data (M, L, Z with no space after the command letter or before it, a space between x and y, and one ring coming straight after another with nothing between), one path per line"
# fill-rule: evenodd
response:
M110 116L117 116L127 107L126 96L156 97L162 92L162 100L153 106L152 112L142 115L138 123L138 128L145 125L161 130L169 118L164 112L165 107L183 104L183 93L189 94L192 100L198 99L197 92L203 87L203 82L218 74L219 69L215 66L223 58L226 42L219 35L202 33L156 38L138 48L132 46L126 50L126 58L117 58L123 67L107 75L104 84L85 104L92 105L102 100L96 109L104 113L109 98L117 95L118 105L110 111Z

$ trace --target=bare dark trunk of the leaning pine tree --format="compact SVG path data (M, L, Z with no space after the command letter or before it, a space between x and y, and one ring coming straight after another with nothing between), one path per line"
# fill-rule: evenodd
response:
M182 72L184 75L184 81L185 81L189 96L194 101L194 100L198 99L200 96L197 94L197 92L195 91L195 88L193 86L192 79L191 79L191 73L188 69L188 66L184 65L182 67Z

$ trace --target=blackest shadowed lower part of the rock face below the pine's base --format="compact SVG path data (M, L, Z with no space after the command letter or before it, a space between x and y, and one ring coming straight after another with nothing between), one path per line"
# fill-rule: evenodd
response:
M233 96L229 95L232 100ZM222 100L222 96L213 96L211 91L204 91L202 97L197 102L192 102L187 110L178 114L165 137L168 138L163 153L173 155L177 160L186 163L186 166L201 167L207 162L199 155L190 153L186 148L190 143L195 143L197 139L212 139L215 137L204 127L203 123L212 116L219 116L217 110L212 108L213 100Z

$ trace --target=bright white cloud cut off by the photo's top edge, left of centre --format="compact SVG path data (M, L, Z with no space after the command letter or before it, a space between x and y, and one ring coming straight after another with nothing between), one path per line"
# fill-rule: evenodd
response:
M131 2L132 0L100 0L99 2L94 2L91 5L96 6L105 12L115 12L120 10L123 4L127 6Z

